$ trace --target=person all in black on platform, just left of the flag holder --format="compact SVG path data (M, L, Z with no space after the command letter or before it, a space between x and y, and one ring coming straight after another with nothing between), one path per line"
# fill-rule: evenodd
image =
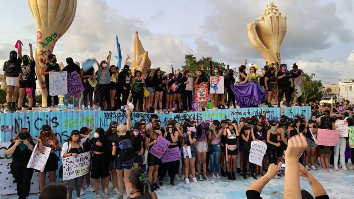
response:
M280 70L277 75L278 79L278 107L280 107L280 102L283 99L283 94L285 94L285 99L287 103L287 107L290 106L290 98L289 98L289 88L294 87L294 82L291 78L291 73L287 70L287 64L280 64Z

